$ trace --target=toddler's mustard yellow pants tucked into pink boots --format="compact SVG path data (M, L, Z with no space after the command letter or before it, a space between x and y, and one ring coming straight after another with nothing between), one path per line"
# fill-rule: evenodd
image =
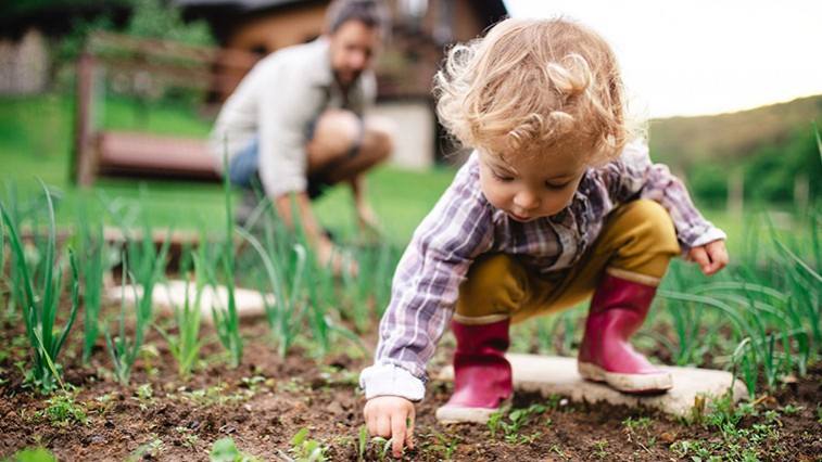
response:
M608 216L592 247L559 281L529 271L510 255L478 258L459 286L454 320L516 323L557 312L591 297L605 272L656 286L679 253L668 211L654 201L632 201Z

